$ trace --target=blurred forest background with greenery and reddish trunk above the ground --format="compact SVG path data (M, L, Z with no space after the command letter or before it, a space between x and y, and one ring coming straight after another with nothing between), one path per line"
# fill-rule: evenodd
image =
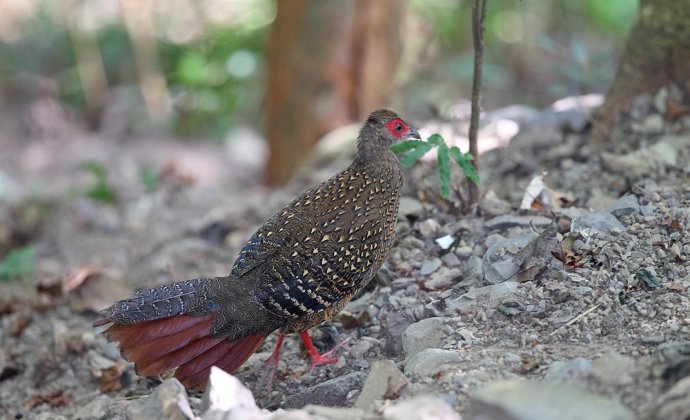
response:
M604 92L637 10L489 2L484 109ZM257 176L282 184L376 107L468 118L470 14L468 0L0 0L0 135L239 138L240 152L250 136L267 145L246 152L267 162Z

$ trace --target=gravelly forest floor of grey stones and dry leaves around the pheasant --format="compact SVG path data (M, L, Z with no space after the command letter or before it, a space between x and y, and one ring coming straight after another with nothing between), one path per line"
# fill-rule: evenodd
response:
M439 198L434 162L407 171L383 269L313 331L324 349L347 340L338 362L310 370L289 338L265 395L269 337L237 377L270 412L243 413L690 416L690 98L640 97L600 146L587 143L585 99L487 114L487 141L520 130L481 156L481 216ZM0 267L0 417L182 418L171 413L190 415L187 402L201 416L201 394L169 381L172 396L149 397L161 380L135 375L91 326L96 310L227 274L263 221L350 155L321 153L269 190L246 132L214 145L0 126L0 250L24 246Z

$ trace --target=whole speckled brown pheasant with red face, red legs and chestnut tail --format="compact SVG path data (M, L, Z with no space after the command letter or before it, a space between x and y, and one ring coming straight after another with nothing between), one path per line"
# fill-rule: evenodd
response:
M106 326L139 375L176 368L187 388L205 387L211 366L232 373L276 330L268 359L275 365L290 333L300 334L312 367L335 362L318 353L308 330L336 315L385 260L402 186L390 146L410 138L420 136L396 113L372 112L352 164L264 223L228 276L138 291L94 325Z

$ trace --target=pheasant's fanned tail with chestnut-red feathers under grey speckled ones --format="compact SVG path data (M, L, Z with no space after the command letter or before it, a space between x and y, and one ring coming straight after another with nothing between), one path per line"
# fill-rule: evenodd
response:
M187 388L203 388L211 366L232 373L261 345L264 335L236 341L211 336L218 308L204 296L209 279L188 280L137 292L103 311L95 326L118 341L137 373L153 376L177 368Z

